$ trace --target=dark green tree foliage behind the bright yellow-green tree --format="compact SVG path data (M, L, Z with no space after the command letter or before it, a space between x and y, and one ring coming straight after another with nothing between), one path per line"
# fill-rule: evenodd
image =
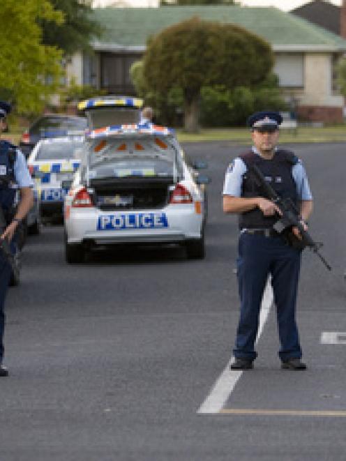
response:
M91 50L90 40L100 36L100 24L91 17L91 0L50 0L55 10L63 13L64 21L40 20L43 43L71 55L78 50Z

